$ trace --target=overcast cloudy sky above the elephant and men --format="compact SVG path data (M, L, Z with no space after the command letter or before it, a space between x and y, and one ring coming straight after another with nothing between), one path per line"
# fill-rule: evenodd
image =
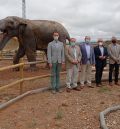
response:
M0 0L0 18L21 17L21 1ZM58 21L77 39L120 37L119 0L26 0L26 5L27 18Z

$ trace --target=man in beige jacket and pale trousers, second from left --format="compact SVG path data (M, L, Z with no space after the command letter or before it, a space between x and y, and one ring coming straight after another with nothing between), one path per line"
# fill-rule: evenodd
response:
M82 54L79 46L75 45L75 42L76 39L71 38L70 44L65 47L66 69L67 69L67 77L66 77L67 92L70 92L71 89L80 91L80 88L77 85L77 81L78 81L79 65Z

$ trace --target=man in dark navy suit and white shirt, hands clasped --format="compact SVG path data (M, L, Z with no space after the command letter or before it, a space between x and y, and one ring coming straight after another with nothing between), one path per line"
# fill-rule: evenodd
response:
M95 80L96 86L102 86L101 78L103 74L104 67L106 66L106 59L108 57L107 48L103 46L103 39L98 39L98 46L94 48L95 53Z

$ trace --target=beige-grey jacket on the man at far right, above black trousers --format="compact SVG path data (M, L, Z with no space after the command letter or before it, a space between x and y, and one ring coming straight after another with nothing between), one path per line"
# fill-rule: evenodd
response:
M108 46L109 63L114 64L116 60L119 60L118 64L120 64L120 45L116 44L116 51L113 47L112 43Z

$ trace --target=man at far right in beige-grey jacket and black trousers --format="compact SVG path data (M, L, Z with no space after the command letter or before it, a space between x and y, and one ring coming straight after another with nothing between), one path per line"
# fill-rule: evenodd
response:
M117 38L112 37L112 43L108 46L109 53L109 85L112 86L112 74L115 68L115 85L118 83L119 65L120 65L120 45L117 44Z

